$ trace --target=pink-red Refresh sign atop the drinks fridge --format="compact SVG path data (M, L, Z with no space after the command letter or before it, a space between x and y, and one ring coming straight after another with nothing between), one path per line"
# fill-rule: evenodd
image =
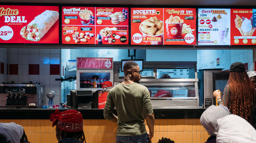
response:
M77 69L113 69L113 58L77 57Z

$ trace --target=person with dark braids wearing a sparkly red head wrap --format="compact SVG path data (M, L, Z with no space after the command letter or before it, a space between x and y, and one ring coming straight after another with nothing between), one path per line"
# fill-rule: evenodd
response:
M79 111L59 112L56 109L51 115L50 121L53 122L53 127L56 125L58 143L86 143L83 132L83 117Z

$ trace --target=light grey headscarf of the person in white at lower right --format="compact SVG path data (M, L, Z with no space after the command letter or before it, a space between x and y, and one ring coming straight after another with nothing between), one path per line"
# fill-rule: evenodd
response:
M209 133L209 135L217 135L217 132L219 130L217 119L223 118L224 116L227 116L229 114L230 112L228 111L227 107L223 105L211 105L201 115L200 123Z

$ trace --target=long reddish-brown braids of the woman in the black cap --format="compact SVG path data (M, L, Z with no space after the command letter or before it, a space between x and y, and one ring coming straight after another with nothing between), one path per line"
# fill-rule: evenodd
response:
M255 87L246 71L230 72L227 85L230 88L231 95L230 99L228 99L228 97L225 98L230 100L230 112L244 118L252 125L252 108L255 105Z

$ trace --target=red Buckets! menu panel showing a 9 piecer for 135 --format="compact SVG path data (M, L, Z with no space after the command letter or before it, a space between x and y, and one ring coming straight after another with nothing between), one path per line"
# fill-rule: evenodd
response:
M163 8L131 8L131 44L163 45Z

